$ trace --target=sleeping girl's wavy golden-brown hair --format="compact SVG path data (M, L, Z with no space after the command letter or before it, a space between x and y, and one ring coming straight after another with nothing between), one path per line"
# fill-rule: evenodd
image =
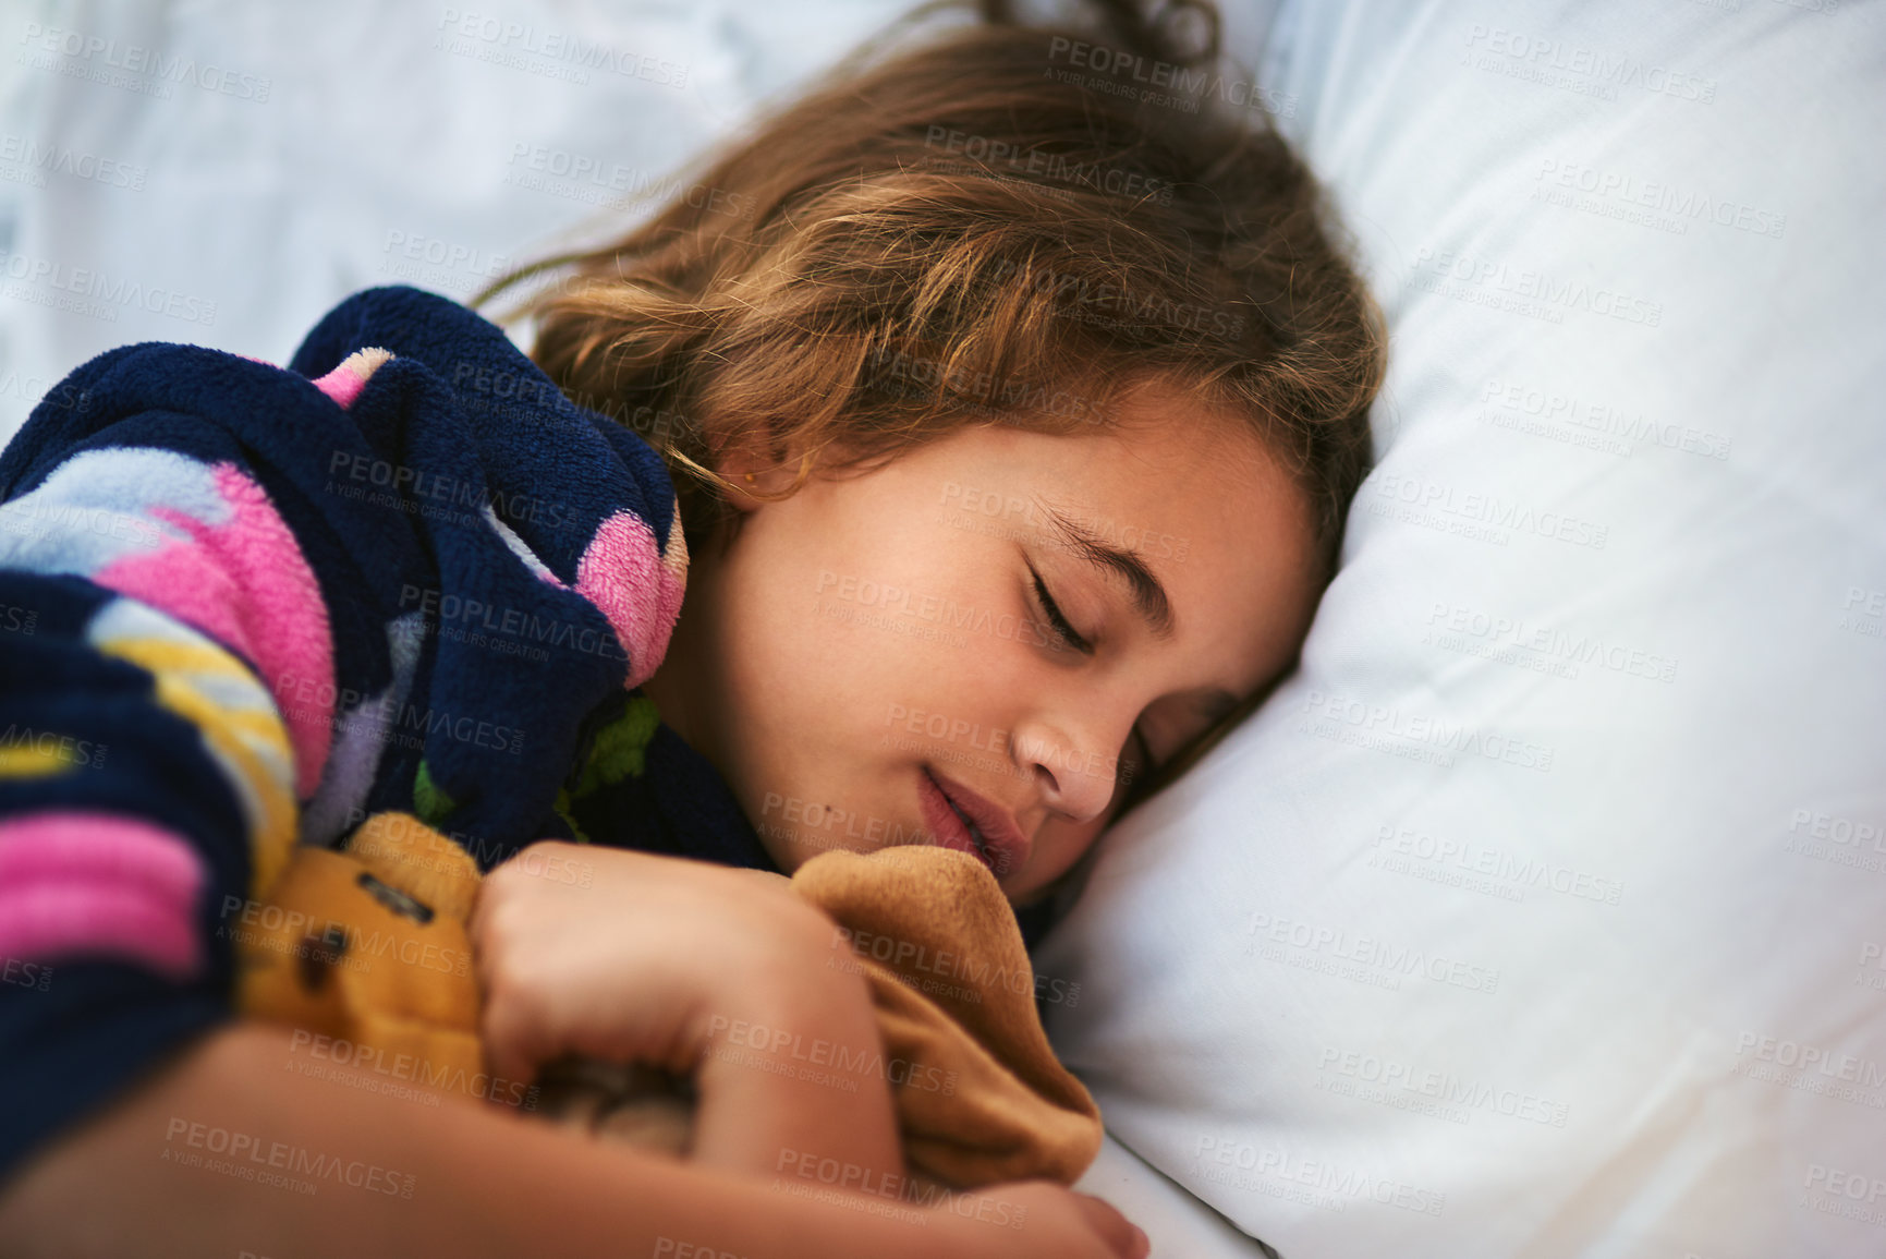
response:
M690 547L732 515L730 447L798 451L783 496L964 425L1092 432L1160 381L1249 421L1333 570L1381 317L1309 170L1226 104L1241 79L1216 11L1113 0L1028 26L984 0L975 25L892 43L620 240L477 300L554 279L511 315L536 319L534 359L568 396L662 453Z

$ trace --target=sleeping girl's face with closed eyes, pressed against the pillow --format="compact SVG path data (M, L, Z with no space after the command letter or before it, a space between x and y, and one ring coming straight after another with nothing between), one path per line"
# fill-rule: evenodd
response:
M1296 655L1315 606L1303 493L1190 398L1143 389L1117 421L960 428L743 500L726 553L694 557L649 695L783 870L945 844L1026 902L1133 776Z

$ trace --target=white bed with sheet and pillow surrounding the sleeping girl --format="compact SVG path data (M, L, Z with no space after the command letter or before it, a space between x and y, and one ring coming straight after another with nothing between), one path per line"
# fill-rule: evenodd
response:
M1880 1253L1886 6L1226 8L1392 370L1303 668L1037 959L1083 1187L1201 1259ZM466 298L900 9L11 4L0 438Z

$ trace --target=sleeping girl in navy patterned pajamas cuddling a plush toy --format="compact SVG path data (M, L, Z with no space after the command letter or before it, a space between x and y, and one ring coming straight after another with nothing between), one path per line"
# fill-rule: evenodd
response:
M532 359L379 289L287 370L55 389L0 455L0 955L51 980L0 987L13 1250L1143 1253L1051 1180L885 1210L883 987L754 872L956 849L1035 934L1292 664L1382 345L1282 140L1139 98L1192 28L879 49L724 196L519 277ZM389 815L443 848L375 866ZM389 927L290 921L304 876ZM234 1017L258 949L472 1074ZM845 1051L758 1070L736 1025ZM688 1157L521 1114L573 1059L690 1080Z

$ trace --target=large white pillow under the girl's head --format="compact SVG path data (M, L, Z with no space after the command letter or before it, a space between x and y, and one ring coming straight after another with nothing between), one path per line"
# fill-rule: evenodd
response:
M1279 13L1381 462L1301 672L1041 966L1115 1136L1286 1255L1886 1251L1882 49Z

